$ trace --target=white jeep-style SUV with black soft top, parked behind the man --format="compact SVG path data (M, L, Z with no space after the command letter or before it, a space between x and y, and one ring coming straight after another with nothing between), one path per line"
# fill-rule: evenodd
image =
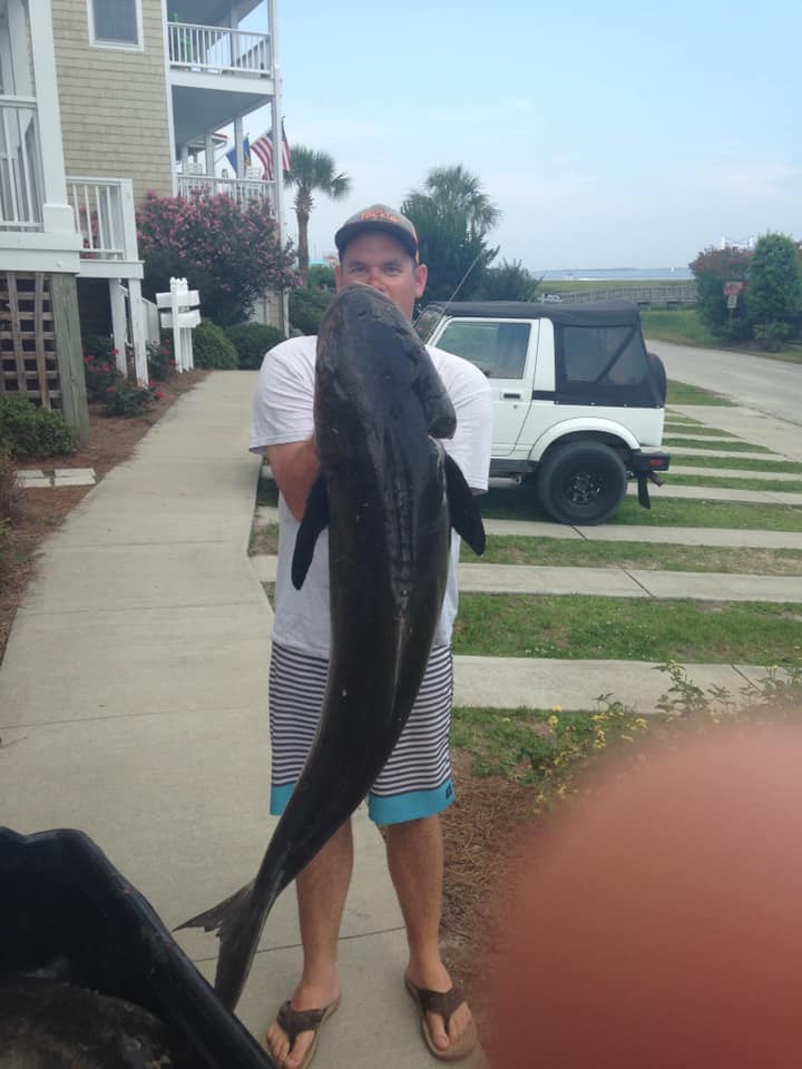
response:
M628 478L649 508L648 480L659 486L669 463L661 450L666 375L646 351L636 305L430 304L415 330L491 380L492 477L535 479L561 523L602 523Z

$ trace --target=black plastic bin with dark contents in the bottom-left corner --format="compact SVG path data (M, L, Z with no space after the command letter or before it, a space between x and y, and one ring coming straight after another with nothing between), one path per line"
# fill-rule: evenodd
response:
M275 1069L82 832L0 827L0 1069Z

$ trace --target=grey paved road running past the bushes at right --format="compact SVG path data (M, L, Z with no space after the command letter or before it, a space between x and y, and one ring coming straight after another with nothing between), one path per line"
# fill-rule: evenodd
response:
M669 379L715 390L763 415L802 426L802 364L649 341Z

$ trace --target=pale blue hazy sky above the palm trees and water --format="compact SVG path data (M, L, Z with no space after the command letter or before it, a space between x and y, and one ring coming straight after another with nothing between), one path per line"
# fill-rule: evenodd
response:
M498 259L530 271L802 238L799 0L277 2L290 144L352 183L315 202L313 259L350 214L451 164L501 209ZM294 238L291 203L286 223Z

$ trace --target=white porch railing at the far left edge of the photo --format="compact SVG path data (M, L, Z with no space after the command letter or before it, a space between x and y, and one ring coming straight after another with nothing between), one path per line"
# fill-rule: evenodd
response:
M36 98L0 96L0 228L41 229L41 188Z

